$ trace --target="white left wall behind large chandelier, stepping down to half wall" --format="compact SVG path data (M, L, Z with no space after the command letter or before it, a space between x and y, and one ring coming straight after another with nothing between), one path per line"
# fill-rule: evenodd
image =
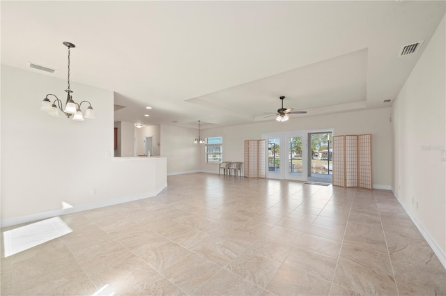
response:
M59 210L63 201L81 208L106 205L153 196L167 185L154 176L155 159L112 157L113 92L76 82L71 87L75 101L91 101L94 120L76 122L39 111L47 93L64 98L66 81L1 65L2 226L5 219Z

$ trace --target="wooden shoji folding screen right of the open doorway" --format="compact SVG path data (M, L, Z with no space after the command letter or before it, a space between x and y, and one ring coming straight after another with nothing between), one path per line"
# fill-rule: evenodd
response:
M334 136L333 185L372 189L371 134Z

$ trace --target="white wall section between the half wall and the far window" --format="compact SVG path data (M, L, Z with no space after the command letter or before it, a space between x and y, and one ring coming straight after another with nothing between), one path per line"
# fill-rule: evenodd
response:
M161 125L161 156L167 157L167 174L199 171L204 157L203 145L194 144L198 130L186 127Z

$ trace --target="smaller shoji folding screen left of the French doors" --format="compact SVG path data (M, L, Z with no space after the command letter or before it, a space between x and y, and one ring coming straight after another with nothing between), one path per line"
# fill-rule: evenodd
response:
M243 174L247 178L266 178L266 141L245 141Z

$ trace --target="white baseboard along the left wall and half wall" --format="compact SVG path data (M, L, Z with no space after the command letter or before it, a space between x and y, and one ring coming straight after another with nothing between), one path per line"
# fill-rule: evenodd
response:
M24 215L20 217L6 218L0 221L1 227L13 226L17 224L28 223L32 221L38 221L42 219L48 219L56 216L71 214L73 212L82 212L84 210L93 210L96 208L104 208L109 205L117 205L119 203L127 203L129 201L137 201L138 199L149 198L157 196L164 188L167 187L167 182L165 182L161 187L153 190L152 192L144 192L142 194L136 194L132 196L124 196L122 198L113 199L111 201L98 201L96 203L87 203L84 205L75 205L72 208L49 210L45 212L36 212L29 215Z

